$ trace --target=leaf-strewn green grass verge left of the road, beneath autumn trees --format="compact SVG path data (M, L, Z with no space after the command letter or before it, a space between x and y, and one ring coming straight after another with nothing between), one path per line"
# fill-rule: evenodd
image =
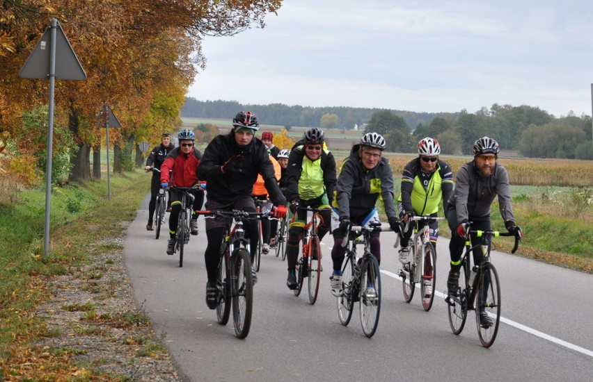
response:
M149 189L150 177L139 170L111 176L111 202L106 201L106 181L54 188L51 250L47 258L42 256L45 188L23 190L17 197L10 195L10 200L0 197L0 366L3 378L18 379L22 374L13 374L11 368L15 365L26 368L29 364L41 367L36 371L38 374L30 375L49 378L39 380L66 380L77 376L118 379L93 371L93 365L76 365L74 354L66 349L48 351L33 346L38 338L59 334L55 329L47 329L43 319L33 313L37 304L52 298L48 285L54 276L74 274L92 256L121 248L121 244L114 244L109 238L126 229L122 221L135 218ZM92 269L84 273L82 279L93 281L101 277L102 269ZM88 282L88 288L93 288L93 283ZM148 316L143 313L97 315L90 302L63 309L81 312L81 326L76 331L79 334L100 332L85 324L93 320L109 320L110 325L120 328L148 325ZM73 374L73 370L80 374Z

